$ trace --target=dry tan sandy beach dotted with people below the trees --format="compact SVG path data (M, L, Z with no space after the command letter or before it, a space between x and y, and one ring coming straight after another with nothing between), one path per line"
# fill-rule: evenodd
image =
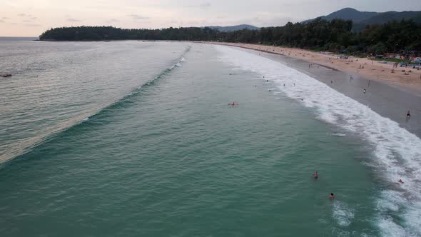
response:
M421 93L421 70L400 66L393 69L393 63L382 64L381 61L355 57L340 59L340 57L336 54L319 53L304 49L293 49L278 46L225 42L211 42L210 44L236 46L245 49L254 49L272 54L290 56L294 59L308 61L310 64L318 64L338 71L343 71L350 74L350 76L363 76L370 80L386 81L389 84L395 84L397 86L402 86L405 89L415 91L417 94ZM312 66L314 67L317 65Z

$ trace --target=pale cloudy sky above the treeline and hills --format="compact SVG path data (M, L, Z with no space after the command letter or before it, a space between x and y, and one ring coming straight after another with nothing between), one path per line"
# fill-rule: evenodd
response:
M352 7L420 11L421 0L0 0L0 36L39 36L57 26L283 26Z

